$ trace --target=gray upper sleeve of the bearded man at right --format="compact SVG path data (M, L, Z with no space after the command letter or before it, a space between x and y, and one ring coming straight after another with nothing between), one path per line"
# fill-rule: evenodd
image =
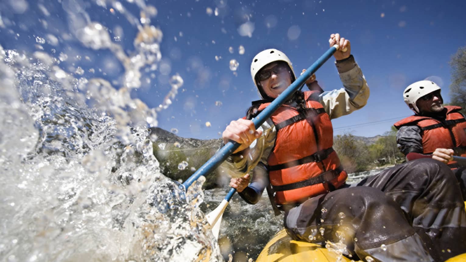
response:
M421 128L418 126L403 126L397 132L397 146L404 155L411 152L422 154Z

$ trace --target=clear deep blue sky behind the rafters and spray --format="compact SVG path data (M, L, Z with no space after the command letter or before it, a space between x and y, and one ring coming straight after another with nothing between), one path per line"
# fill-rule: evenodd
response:
M132 2L121 1L138 17L139 10ZM146 4L157 8L151 24L164 34L162 60L150 81L143 81L131 95L157 107L170 91L169 77L179 74L184 85L173 104L158 114L158 126L176 128L178 132L174 132L182 137L219 138L230 121L244 116L250 102L259 99L250 62L266 48L287 54L299 74L328 49L331 33L349 39L368 81L370 98L361 110L333 121L335 134L374 136L411 114L401 94L414 81L429 78L437 82L448 102L448 61L459 47L466 46L464 0L167 0ZM0 45L31 52L38 48L36 36L54 34L60 42L53 47L54 56L60 52L69 57L88 55L90 60L75 61L73 66L79 64L85 71L100 68L102 72L97 70L95 75L113 81L118 88L123 67L108 50L90 50L73 40L63 12L69 6L82 8L90 20L109 28L112 36L123 32L117 43L127 52L134 49L136 27L118 12L86 0L2 1ZM51 15L44 16L41 7ZM254 26L254 31L239 30L245 26ZM240 46L244 54L239 54ZM42 47L51 53L47 43ZM236 71L230 70L232 59L239 63ZM68 63L62 64L63 69L69 68L71 61ZM316 73L324 90L342 87L333 63L331 58Z

